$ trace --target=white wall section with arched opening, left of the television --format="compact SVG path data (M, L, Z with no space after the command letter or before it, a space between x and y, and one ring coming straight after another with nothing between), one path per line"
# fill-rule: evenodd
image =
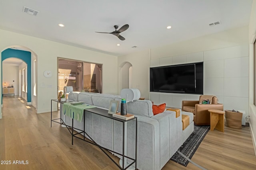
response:
M118 92L122 90L122 64L132 64L132 88L140 90L140 96L149 99L149 63L150 51L140 51L129 55L118 57Z

